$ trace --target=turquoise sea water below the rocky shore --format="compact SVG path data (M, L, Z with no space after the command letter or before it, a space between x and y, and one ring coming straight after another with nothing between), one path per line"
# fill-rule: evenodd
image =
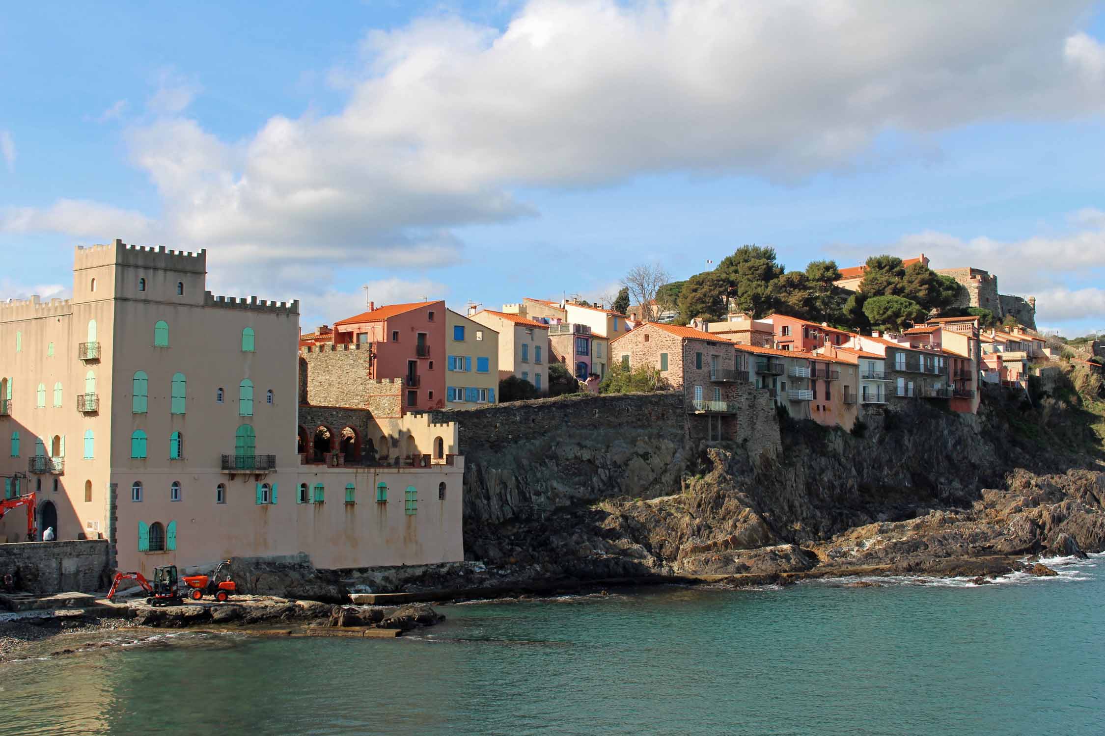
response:
M0 665L0 734L1103 734L1105 556L1059 569L444 606L397 640L177 633Z

